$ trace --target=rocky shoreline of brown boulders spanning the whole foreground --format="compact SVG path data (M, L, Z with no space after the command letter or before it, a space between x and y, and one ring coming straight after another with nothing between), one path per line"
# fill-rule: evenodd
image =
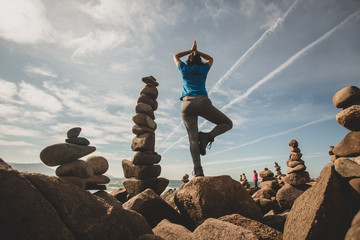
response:
M359 100L357 87L334 95L334 105L343 108L337 120L350 132L330 148L316 181L292 139L286 175L275 163L276 175L268 168L259 173L260 188L245 175L240 182L226 175L184 176L179 189L162 195L158 188L91 193L88 188L106 182L94 177L106 172L107 161L78 160L95 147L79 139L81 129L70 129L70 140L41 154L47 165L59 165L56 177L18 172L0 159L1 239L359 239Z

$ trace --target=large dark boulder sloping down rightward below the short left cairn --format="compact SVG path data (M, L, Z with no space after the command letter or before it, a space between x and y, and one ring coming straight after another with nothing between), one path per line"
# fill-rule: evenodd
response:
M64 183L56 177L22 173L56 208L65 225L78 239L136 239L151 233L140 214L110 205L100 197ZM116 227L115 227L116 226Z

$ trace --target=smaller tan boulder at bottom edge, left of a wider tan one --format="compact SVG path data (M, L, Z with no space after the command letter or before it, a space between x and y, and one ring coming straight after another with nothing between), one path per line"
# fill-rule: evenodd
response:
M182 225L169 222L167 219L162 220L155 228L153 228L153 232L163 239L195 240L189 229Z

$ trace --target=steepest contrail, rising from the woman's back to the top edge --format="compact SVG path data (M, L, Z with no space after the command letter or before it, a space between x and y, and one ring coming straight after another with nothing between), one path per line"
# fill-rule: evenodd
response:
M215 83L215 85L210 89L209 95L213 92L216 92L219 89L220 84L222 84L229 76L251 55L251 53L260 45L271 33L273 33L279 25L281 25L289 13L295 8L298 0L295 0L293 4L289 7L286 13L278 18L277 21L266 30L261 37L235 62L234 65Z

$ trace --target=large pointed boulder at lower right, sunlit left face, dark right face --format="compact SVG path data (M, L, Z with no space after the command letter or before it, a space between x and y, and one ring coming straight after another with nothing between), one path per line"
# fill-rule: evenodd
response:
M285 222L284 239L344 239L353 216L343 180L329 163L318 182L295 200Z

